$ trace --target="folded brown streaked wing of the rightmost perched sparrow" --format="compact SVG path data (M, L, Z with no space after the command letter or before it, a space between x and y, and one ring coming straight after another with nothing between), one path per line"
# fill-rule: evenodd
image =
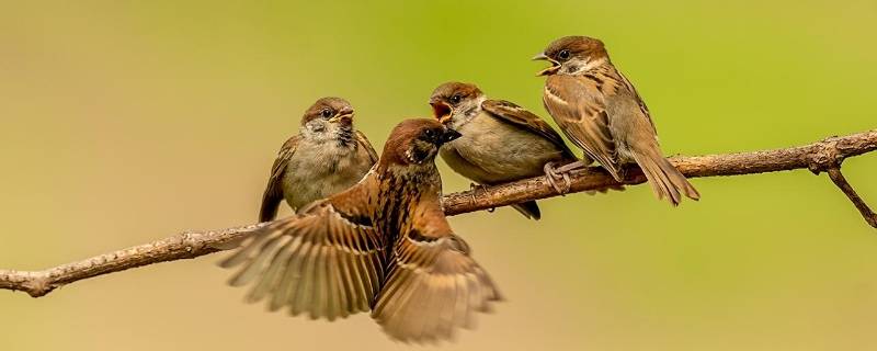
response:
M550 76L543 102L567 137L620 181L602 83L589 76Z

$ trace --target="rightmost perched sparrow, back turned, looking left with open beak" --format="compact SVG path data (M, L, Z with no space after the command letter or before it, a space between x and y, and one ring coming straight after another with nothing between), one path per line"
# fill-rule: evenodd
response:
M701 194L661 154L658 135L646 103L630 81L610 61L603 42L567 36L548 45L534 59L551 63L539 72L548 76L543 101L573 144L597 160L617 181L628 163L637 163L658 199L673 205L681 194ZM580 165L558 169L567 171Z

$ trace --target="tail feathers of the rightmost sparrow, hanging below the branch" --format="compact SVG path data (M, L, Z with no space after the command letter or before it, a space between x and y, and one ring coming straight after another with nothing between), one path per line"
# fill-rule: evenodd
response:
M679 205L682 195L692 200L699 200L701 194L694 185L682 176L680 171L668 161L659 148L652 148L646 152L631 152L642 173L649 180L654 194L658 199L667 197L673 206Z

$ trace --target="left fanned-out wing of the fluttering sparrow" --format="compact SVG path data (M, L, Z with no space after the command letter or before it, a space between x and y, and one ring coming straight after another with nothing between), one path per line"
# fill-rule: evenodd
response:
M293 316L333 320L369 310L384 278L385 246L368 217L333 199L260 229L220 262L239 268L229 284L255 283L248 302L267 297L270 310L289 306Z

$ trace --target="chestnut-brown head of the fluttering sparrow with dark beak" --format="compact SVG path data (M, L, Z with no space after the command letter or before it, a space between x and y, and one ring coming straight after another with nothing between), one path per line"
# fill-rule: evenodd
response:
M405 120L390 132L380 162L385 166L429 165L442 145L458 137L460 134L457 131L435 120Z

